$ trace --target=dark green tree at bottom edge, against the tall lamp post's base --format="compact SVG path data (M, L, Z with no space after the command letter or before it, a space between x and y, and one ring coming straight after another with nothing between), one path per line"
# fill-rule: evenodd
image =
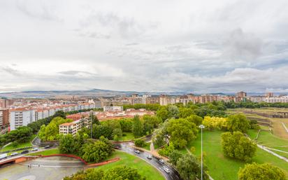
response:
M186 154L179 158L176 169L184 180L201 179L201 163L196 160L194 155ZM203 179L208 179L205 170L206 167L203 168Z

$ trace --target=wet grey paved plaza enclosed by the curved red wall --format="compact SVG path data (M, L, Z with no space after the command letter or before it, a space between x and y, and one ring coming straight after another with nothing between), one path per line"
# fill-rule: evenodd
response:
M28 167L31 166L31 167ZM84 164L75 158L38 158L0 168L0 180L62 179L83 169Z

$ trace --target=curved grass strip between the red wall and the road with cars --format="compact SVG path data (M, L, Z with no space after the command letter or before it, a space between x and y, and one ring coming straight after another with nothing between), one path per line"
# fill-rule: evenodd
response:
M113 167L126 165L127 167L133 167L135 169L138 169L139 174L145 176L147 180L165 179L164 176L162 176L161 173L156 168L154 168L152 165L145 162L144 160L137 158L134 155L130 155L122 151L115 151L115 153L113 153L113 155L110 158L116 158L116 157L119 157L121 159L117 162L112 162L108 165L103 165L96 168L107 170Z

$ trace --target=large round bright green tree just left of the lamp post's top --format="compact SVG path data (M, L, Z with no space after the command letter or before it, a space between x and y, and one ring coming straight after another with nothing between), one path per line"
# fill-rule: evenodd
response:
M196 139L198 134L196 125L183 118L168 120L164 124L164 130L170 136L170 141L180 148L186 146L189 141Z

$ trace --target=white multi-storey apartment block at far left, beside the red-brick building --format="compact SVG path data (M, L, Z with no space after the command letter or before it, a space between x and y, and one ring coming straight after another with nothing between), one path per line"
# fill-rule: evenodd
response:
M13 109L10 110L10 130L17 127L26 126L35 121L35 110L33 109Z

